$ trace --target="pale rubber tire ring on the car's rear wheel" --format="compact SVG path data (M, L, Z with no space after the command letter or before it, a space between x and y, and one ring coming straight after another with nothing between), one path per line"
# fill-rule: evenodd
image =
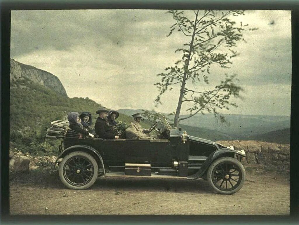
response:
M93 167L94 167L94 174L93 174L93 177L91 178L91 180L87 184L85 184L83 186L80 186L80 187L71 185L70 183L68 183L65 180L65 178L63 176L64 164L68 161L68 159L70 159L71 157L74 157L74 156L84 156L84 157L88 158L90 160L90 162L92 163ZM90 154L88 154L84 151L74 151L74 152L71 152L70 154L67 154L65 157L63 157L63 159L62 159L62 161L59 165L58 171L59 171L59 177L60 177L61 182L67 188L75 189L75 190L84 190L84 189L89 188L91 185L93 185L94 182L97 180L97 175L98 175L99 169L98 169L97 161Z

